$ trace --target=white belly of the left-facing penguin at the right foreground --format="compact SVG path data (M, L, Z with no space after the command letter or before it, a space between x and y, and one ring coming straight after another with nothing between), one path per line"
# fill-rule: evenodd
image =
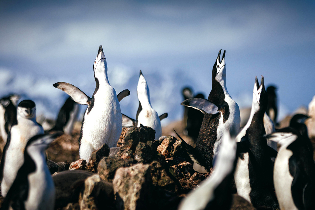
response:
M294 204L291 192L293 177L289 171L289 158L292 155L293 152L287 148L280 148L273 169L274 188L279 207L286 210L298 210Z

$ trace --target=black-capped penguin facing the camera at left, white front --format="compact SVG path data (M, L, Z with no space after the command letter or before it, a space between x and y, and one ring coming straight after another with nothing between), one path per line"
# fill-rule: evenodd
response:
M0 163L1 193L7 194L16 174L23 165L23 155L31 137L44 134L43 127L36 122L36 106L31 100L21 101L17 108L17 122L12 125L8 141L3 148Z

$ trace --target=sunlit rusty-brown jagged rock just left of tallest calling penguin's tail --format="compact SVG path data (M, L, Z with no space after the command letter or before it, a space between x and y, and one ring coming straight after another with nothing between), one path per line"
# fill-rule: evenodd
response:
M157 152L161 153L165 158L185 158L186 161L192 163L186 150L181 146L181 140L171 135L157 147Z

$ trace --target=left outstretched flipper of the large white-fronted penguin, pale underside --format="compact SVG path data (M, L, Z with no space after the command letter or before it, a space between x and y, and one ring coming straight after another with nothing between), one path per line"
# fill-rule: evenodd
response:
M53 85L55 88L58 88L62 91L65 91L66 94L72 97L72 99L78 104L89 105L91 98L88 97L83 91L81 91L76 86L73 86L66 82L57 82Z

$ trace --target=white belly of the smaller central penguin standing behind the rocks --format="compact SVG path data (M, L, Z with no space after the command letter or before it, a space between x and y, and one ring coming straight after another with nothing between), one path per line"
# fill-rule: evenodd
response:
M142 124L155 130L155 139L158 139L162 136L161 121L154 109L142 109L138 115L137 120L137 127Z

